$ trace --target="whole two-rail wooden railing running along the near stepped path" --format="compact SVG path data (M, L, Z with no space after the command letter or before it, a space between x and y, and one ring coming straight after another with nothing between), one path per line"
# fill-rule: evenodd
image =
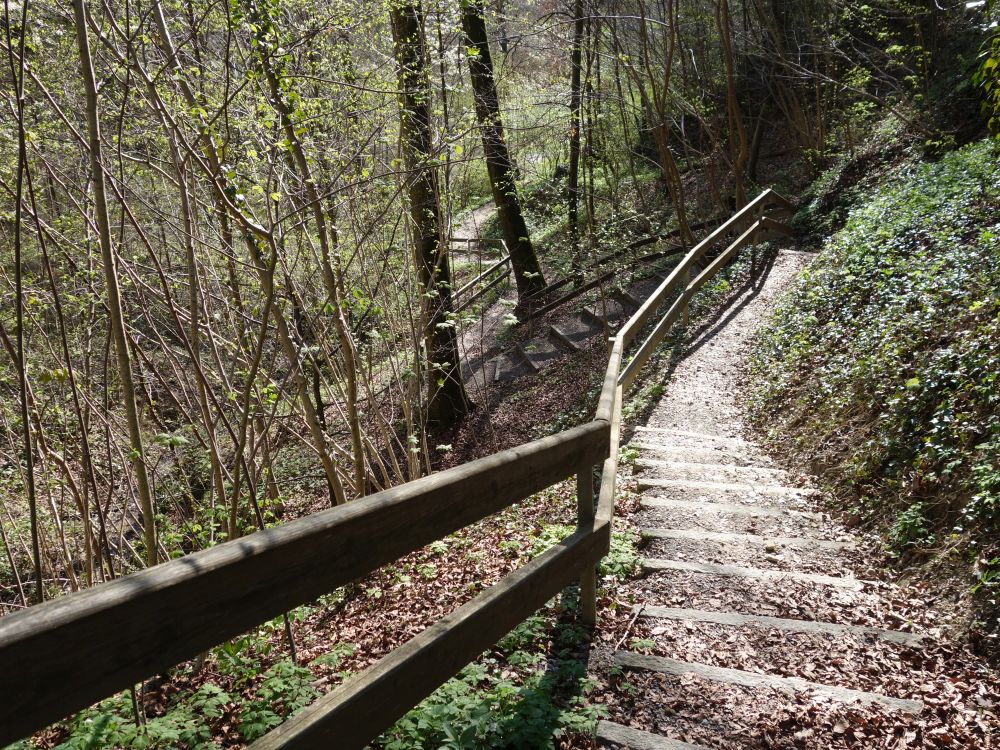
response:
M595 566L611 539L623 394L705 281L762 232L789 232L765 214L789 208L767 190L684 257L611 340L593 421L0 618L0 747L573 475L579 517L572 534L253 750L364 747L575 581L583 617L593 623ZM696 264L733 235L690 280ZM626 350L667 302L626 363Z

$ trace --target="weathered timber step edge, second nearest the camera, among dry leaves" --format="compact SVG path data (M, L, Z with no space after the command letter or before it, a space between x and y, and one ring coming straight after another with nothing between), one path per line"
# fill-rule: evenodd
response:
M693 674L704 680L722 682L728 685L742 685L748 688L775 688L785 692L796 693L813 691L845 703L859 702L869 705L877 703L895 711L903 711L911 714L918 714L924 709L924 704L920 701L893 698L881 693L869 693L864 690L852 690L851 688L842 688L835 685L824 685L818 682L803 680L800 677L779 677L777 675L758 674L742 669L726 669L724 667L713 667L708 664L698 664L697 662L667 659L662 656L633 654L630 651L615 652L615 664L626 669L643 669L649 672L660 672L661 674Z

